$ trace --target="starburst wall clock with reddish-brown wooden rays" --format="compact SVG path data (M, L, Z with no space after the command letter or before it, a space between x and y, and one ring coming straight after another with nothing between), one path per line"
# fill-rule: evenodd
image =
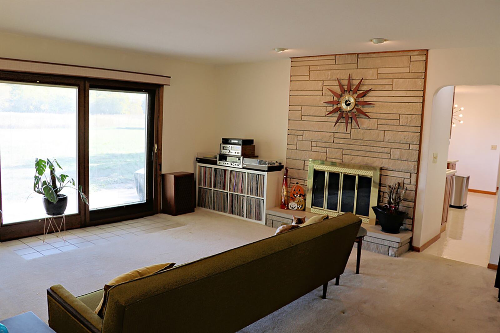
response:
M362 98L364 95L366 95L368 92L371 91L371 89L368 89L368 90L365 90L363 92L357 93L357 90L359 89L359 86L361 85L362 81L363 81L363 79L361 78L359 80L359 82L357 82L354 89L351 90L350 74L349 74L349 78L347 79L347 87L346 88L343 87L342 83L340 83L340 80L337 77L337 82L338 82L338 87L340 88L340 93L333 91L330 88L327 88L328 90L330 90L330 92L333 94L333 96L335 96L335 99L328 100L328 101L324 102L327 104L331 104L333 107L333 109L331 111L329 111L328 113L326 113L326 115L338 112L338 116L337 116L337 119L335 120L335 124L333 125L333 127L335 127L336 124L338 123L338 121L342 117L344 117L345 118L345 131L347 131L347 123L349 122L349 114L352 117L352 120L354 120L354 122L356 123L357 128L361 128L361 127L359 127L359 122L357 121L356 113L362 114L365 117L369 118L369 115L367 115L359 107L362 105L372 105L373 104L370 102L366 102L364 100L359 100L360 98ZM337 106L335 106L335 105L337 105Z

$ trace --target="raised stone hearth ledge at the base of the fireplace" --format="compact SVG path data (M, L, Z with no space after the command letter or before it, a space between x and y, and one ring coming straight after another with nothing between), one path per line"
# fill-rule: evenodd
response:
M306 219L317 215L305 211L285 210L279 207L269 208L266 210L265 225L277 228L283 224L290 224L293 220L293 215L303 216L304 214ZM389 256L399 256L409 249L409 241L412 235L410 230L401 230L397 234L392 234L382 232L380 225L363 223L361 226L368 232L363 239L362 249L364 250ZM357 244L354 243L354 247L356 246Z

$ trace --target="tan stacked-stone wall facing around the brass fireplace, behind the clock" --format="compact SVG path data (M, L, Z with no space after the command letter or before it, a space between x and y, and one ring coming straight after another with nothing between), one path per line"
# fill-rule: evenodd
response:
M413 216L420 126L425 82L425 50L357 53L291 59L286 166L290 185L307 185L308 159L330 160L381 167L379 201L386 202L387 184L408 187L401 209ZM370 116L358 115L360 129L344 119L333 127L338 113L324 103L333 99L327 90L363 82L372 89L362 100ZM411 228L411 218L405 226Z

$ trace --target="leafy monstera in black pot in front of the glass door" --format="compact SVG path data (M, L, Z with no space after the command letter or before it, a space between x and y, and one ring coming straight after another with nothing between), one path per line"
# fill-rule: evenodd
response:
M62 215L66 210L67 206L67 196L61 194L61 190L65 187L74 188L80 194L81 200L88 204L87 197L82 191L81 185L78 188L74 187L75 182L73 178L70 178L67 174L55 173L55 166L62 169L57 160L54 158L41 159L36 158L34 161L35 174L33 191L43 195L43 206L47 215ZM46 170L48 168L48 177Z

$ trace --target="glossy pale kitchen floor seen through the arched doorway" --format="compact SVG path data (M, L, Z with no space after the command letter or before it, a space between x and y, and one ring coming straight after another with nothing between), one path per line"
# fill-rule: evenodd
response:
M468 207L449 208L446 230L423 253L487 266L496 200L496 195L468 192Z

